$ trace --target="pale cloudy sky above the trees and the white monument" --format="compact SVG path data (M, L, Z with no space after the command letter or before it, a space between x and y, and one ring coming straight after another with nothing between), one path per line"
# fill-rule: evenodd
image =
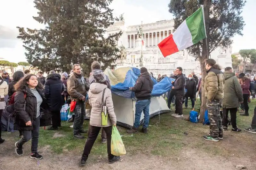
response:
M172 19L168 12L170 0L113 0L110 8L114 16L124 13L127 26L143 23L152 23L164 19ZM256 0L247 0L242 16L245 26L243 36L235 35L232 44L232 53L240 49L256 48L256 22L254 15ZM0 58L14 63L26 61L22 47L23 43L17 39L16 26L25 28L44 28L44 25L36 22L32 16L37 16L32 0L1 0L0 1Z

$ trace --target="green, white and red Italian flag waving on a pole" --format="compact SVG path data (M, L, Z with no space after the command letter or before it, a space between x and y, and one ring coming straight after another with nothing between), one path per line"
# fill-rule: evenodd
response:
M206 38L204 7L190 15L174 33L158 44L164 57L188 48Z

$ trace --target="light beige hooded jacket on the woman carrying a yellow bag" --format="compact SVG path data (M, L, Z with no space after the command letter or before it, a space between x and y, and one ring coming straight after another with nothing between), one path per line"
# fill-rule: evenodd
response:
M102 101L103 90L105 90ZM92 83L90 85L90 90L88 92L89 103L92 106L91 116L90 116L90 125L98 127L108 127L116 124L116 115L114 112L114 105L112 101L111 90L107 88L107 85L100 83ZM101 125L101 109L102 106L107 106L108 108L108 125Z

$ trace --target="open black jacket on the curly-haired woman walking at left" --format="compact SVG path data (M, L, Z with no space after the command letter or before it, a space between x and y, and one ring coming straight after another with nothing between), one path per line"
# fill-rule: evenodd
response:
M36 89L43 99L40 106L40 112L48 112L48 105L44 99L42 89ZM27 94L26 99L24 98ZM26 100L26 107L24 110L24 104ZM36 97L26 86L21 91L15 93L14 97L14 125L17 130L33 130L33 124L36 120ZM32 126L26 126L26 122L31 121Z

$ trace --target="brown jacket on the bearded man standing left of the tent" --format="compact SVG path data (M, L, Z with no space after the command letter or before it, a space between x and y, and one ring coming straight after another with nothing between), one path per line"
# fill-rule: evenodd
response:
M67 90L72 101L81 101L83 97L86 97L86 91L89 90L86 80L83 75L76 75L73 73L67 80Z

